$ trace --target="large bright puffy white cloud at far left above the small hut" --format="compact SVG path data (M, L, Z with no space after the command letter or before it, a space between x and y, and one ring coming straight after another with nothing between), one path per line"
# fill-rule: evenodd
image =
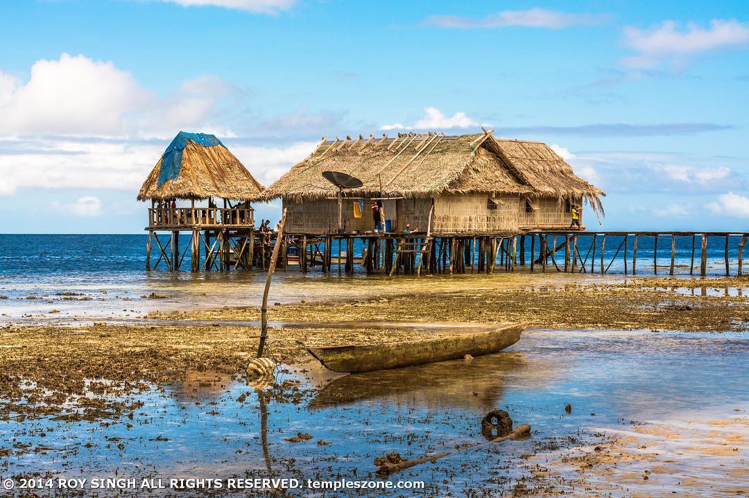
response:
M219 100L235 89L214 76L183 82L160 96L143 88L112 61L62 54L31 67L28 82L0 72L0 134L159 136L175 130L218 127Z

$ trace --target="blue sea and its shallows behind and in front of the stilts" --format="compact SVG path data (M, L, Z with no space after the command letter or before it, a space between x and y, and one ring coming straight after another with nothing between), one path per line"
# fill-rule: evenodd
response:
M189 237L181 238L181 250ZM592 237L581 237L578 247L586 259ZM608 237L606 256L616 252L621 237ZM724 273L724 238L709 241L710 275ZM145 235L0 235L0 323L7 321L70 322L77 320L133 319L158 309L218 308L222 306L259 306L264 274L258 271L238 272L169 272L161 264L145 271ZM736 274L738 237L730 240L730 268ZM360 251L359 242L355 250ZM640 237L637 252L638 275L652 275L652 237ZM337 249L337 248L336 248ZM345 246L344 246L345 250ZM530 243L527 243L530 261ZM699 271L699 242L697 271ZM515 273L487 275L432 276L428 279L366 276L357 265L353 277L339 277L334 265L327 275L312 270L303 275L294 267L279 270L274 279L271 299L282 303L300 300L338 300L377 297L380 294L410 291L446 291L487 286L528 288L562 286L571 280L620 279L623 274L623 248L611 265L610 276L548 272L530 275L518 268ZM659 273L666 274L670 264L670 237L659 242ZM600 237L596 248L595 269L600 267ZM557 254L562 264L563 251ZM688 276L691 239L679 237L676 246L676 274ZM155 261L155 258L154 258ZM631 269L631 243L628 247ZM592 263L592 252L586 267ZM189 269L189 251L183 268ZM490 283L491 282L491 283ZM706 292L715 290L706 289ZM719 289L716 295L736 294L742 289ZM163 299L148 299L152 293ZM7 299L5 299L7 298Z

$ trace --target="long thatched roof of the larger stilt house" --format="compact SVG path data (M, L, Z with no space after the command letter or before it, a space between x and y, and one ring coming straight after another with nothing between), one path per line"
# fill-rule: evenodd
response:
M440 193L487 192L586 198L601 210L601 189L572 172L548 145L473 135L398 134L375 139L323 140L312 154L263 192L266 200L332 197L323 171L342 171L363 182L351 196L424 198Z

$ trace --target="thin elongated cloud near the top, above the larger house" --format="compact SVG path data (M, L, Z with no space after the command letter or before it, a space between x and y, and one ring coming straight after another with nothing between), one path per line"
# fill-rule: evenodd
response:
M591 25L603 22L607 16L586 13L565 13L539 7L529 10L503 10L482 19L462 16L429 16L426 24L442 28L503 28L524 26L527 28L565 28L571 25Z

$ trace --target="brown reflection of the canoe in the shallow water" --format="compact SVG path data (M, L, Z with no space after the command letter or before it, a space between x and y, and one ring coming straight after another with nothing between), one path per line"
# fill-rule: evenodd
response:
M370 401L377 404L407 402L427 408L457 407L483 413L500 401L506 382L520 382L522 372L527 368L522 351L506 351L470 361L455 359L348 374L324 386L309 408L315 410ZM330 378L329 371L319 366L312 368L307 375L315 381L324 382L326 377Z

